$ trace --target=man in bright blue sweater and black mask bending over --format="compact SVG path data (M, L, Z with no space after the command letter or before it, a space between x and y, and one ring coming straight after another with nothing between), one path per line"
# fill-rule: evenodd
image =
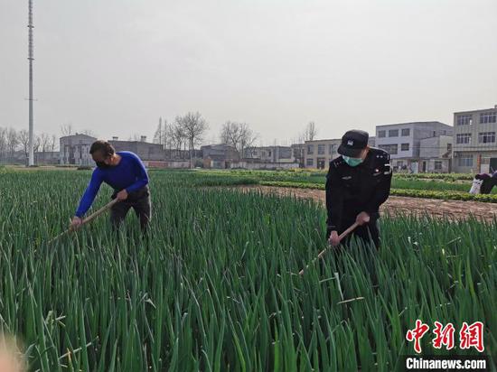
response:
M97 168L91 175L91 181L80 200L80 206L70 223L70 228L80 228L82 218L97 196L102 182L114 189L112 199L120 200L110 209L112 228L117 229L126 218L130 208L135 209L140 220L140 227L145 232L150 221L150 191L145 166L136 155L128 151L116 153L114 147L106 141L91 144L89 153Z

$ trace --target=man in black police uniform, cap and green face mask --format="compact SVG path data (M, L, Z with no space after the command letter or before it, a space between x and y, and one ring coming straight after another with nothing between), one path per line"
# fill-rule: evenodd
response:
M338 153L326 176L327 237L332 246L354 222L360 225L342 241L347 245L353 235L380 247L379 208L389 198L392 172L389 153L368 146L369 135L352 130L342 137Z

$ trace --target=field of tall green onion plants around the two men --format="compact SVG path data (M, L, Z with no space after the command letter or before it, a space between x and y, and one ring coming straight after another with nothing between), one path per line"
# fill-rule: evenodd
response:
M495 370L495 219L383 216L378 253L355 245L313 264L321 205L211 187L261 181L249 172L156 171L148 237L131 212L117 235L103 216L49 243L89 176L0 170L0 330L30 371L395 371L417 319L454 323L456 339L483 321ZM102 186L93 210L110 194ZM478 355L432 339L427 354Z

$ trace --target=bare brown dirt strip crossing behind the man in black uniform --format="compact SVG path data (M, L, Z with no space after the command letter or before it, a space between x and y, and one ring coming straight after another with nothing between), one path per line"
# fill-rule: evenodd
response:
M278 195L294 195L297 198L313 199L325 202L325 194L322 190L293 189L274 186L239 186L236 190L250 191L258 190L264 193L277 193ZM497 204L483 203L479 201L459 200L435 200L423 198L408 198L402 196L390 196L389 200L381 206L381 211L390 214L414 214L431 215L438 218L468 219L473 215L477 219L497 219Z

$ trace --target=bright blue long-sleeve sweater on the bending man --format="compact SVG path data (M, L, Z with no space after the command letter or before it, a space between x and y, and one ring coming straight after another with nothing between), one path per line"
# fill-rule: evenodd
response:
M102 182L106 182L115 191L126 189L127 192L137 191L148 183L145 166L136 153L121 151L117 154L121 156L121 161L116 166L97 167L93 171L89 185L80 200L80 206L76 210L76 216L81 218L88 211Z

